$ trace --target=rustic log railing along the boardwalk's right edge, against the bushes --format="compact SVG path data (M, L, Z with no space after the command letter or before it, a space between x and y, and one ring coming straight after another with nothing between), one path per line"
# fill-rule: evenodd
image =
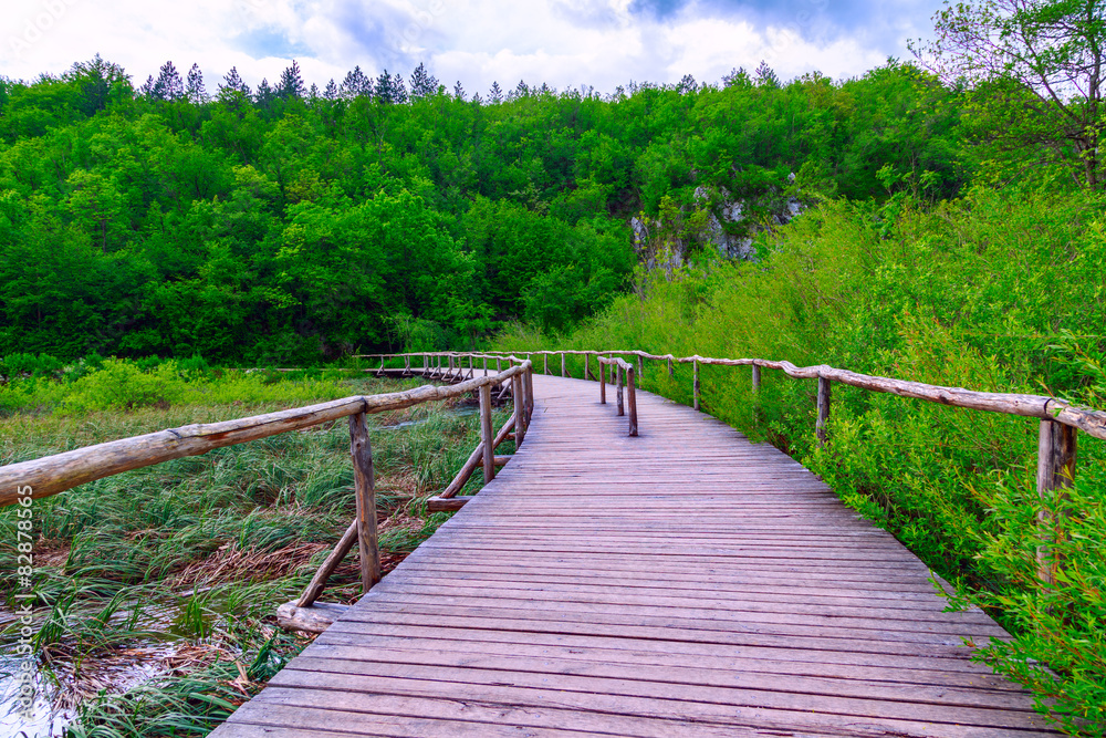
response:
M495 354L498 352L490 352ZM674 376L674 364L691 364L691 397L695 409L700 408L702 388L699 382L699 367L712 366L750 366L752 367L751 386L753 393L760 391L761 370L779 370L796 380L817 380L817 415L815 435L820 445L830 443L828 419L832 396L832 383L837 382L870 392L884 392L900 397L924 399L931 403L962 407L967 409L1020 415L1040 419L1037 434L1037 495L1042 501L1060 501L1056 496L1063 496L1075 478L1076 430L1106 439L1106 413L1093 408L1078 407L1067 401L1043 395L1025 395L1013 393L974 392L963 387L945 387L905 382L885 376L859 374L848 370L839 370L826 364L815 366L795 366L791 362L769 361L764 358L711 358L707 356L675 356L672 354L650 354L645 351L532 351L519 352L526 358L542 356L542 365L549 373L549 357L561 356L561 376L568 376L565 356L584 356L584 378L596 378L589 372L591 357L598 358L601 364L607 364L614 356L630 356L637 360L637 376L644 373L646 361L666 362L669 376ZM628 362L624 362L628 365ZM602 372L601 372L602 374ZM602 386L601 393L605 387ZM633 420L632 420L633 422ZM1039 524L1042 528L1044 541L1057 540L1062 536L1060 521L1054 520L1047 511L1063 505L1043 505L1039 512ZM1046 584L1054 583L1060 562L1052 555L1047 543L1042 543L1037 551L1039 578Z

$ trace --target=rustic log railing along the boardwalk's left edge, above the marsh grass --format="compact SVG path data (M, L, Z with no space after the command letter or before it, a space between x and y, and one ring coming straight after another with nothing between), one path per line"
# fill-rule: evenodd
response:
M31 499L50 497L85 482L132 469L140 469L185 456L199 456L216 448L244 444L292 430L302 430L348 417L349 454L354 466L354 497L357 517L349 523L335 549L294 604L296 607L307 607L315 602L323 591L326 580L354 543L357 543L358 547L362 589L367 592L376 582L380 581L382 574L376 531L373 450L366 416L371 413L396 410L478 392L480 395L481 444L477 447L478 453L473 453L478 460L472 468L482 464L484 479L490 481L494 477L497 464L493 456L494 448L507 437L503 430L494 438L491 434L492 387L511 383L515 387L514 398L525 401L522 403L524 412L521 414L515 412L512 416L515 428L514 437L517 441L521 441L533 410L532 392L529 392L533 387L530 378L533 364L529 360L503 355L488 356L488 360L494 360L500 364L508 362L511 366L481 377L472 376L470 372L468 378L459 376L456 372L435 372L436 376L431 378L449 378L457 384L453 386L427 385L383 395L345 397L330 403L222 423L168 428L143 436L86 446L30 461L9 464L0 467L0 507L12 505L17 500L28 497ZM507 427L504 426L504 428ZM467 464L466 467L468 466ZM472 469L470 468L468 475L471 474ZM458 475L458 478L455 478L447 491L452 489L452 493L456 495L456 491L465 484L465 481L458 482L460 477L461 475ZM468 476L465 476L465 480L467 479ZM30 492L28 493L27 490Z

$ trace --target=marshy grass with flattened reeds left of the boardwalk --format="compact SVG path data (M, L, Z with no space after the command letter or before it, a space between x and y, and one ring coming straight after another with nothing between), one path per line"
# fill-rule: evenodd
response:
M125 362L81 372L24 371L0 388L2 462L418 382ZM422 501L479 428L457 403L369 423L388 571L447 518ZM69 735L207 735L310 642L279 630L275 607L299 594L354 516L348 449L347 425L336 423L34 502L35 652L50 700L77 716ZM0 510L0 555L12 562L15 524L13 510ZM355 553L331 582L323 600L359 596ZM17 584L6 567L9 607ZM15 632L4 625L0 648L10 648Z

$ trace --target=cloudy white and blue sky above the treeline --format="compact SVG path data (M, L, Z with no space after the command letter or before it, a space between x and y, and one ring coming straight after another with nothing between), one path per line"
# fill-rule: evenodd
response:
M305 82L354 65L409 79L426 64L448 89L519 81L602 93L634 82L718 83L761 61L782 80L858 76L909 59L939 0L15 0L0 18L0 76L60 74L95 54L136 85L173 61L209 92L233 66L251 86L293 59Z

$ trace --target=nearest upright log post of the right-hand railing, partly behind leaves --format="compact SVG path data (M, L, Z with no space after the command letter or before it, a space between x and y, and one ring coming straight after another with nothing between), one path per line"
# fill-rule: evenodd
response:
M1064 490L1075 481L1075 428L1055 420L1041 420L1037 436L1037 526L1041 545L1037 547L1037 576L1045 586L1056 583L1063 561L1054 547L1063 540L1064 510L1067 495ZM1055 513L1053 512L1055 511Z

